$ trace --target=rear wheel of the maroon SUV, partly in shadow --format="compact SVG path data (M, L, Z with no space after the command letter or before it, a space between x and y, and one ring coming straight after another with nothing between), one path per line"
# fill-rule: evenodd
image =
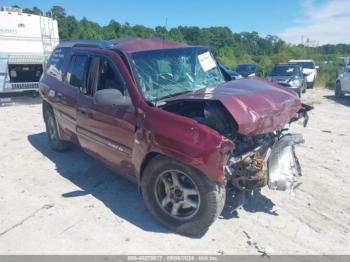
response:
M53 110L47 108L44 112L46 133L49 139L50 147L55 151L66 151L69 149L70 144L67 141L63 141L59 138L57 122Z

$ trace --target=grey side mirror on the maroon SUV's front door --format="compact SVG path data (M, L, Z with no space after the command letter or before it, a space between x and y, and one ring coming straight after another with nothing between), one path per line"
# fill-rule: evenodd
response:
M94 103L97 105L111 105L129 107L132 105L130 97L123 96L118 89L98 90L94 95Z

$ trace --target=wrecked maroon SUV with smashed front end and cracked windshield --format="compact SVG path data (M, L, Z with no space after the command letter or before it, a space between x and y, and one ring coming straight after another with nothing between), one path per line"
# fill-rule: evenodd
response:
M64 42L40 93L51 147L78 144L137 183L153 216L180 233L207 230L227 188L292 190L300 175L302 137L285 126L310 107L259 78L230 81L207 47Z

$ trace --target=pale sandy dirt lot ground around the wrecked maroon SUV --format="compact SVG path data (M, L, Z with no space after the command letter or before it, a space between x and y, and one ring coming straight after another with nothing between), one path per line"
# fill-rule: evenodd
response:
M40 101L0 107L0 253L349 254L350 97L304 100L315 110L292 126L306 140L295 194L264 188L195 238L157 224L136 186L82 150L52 151Z

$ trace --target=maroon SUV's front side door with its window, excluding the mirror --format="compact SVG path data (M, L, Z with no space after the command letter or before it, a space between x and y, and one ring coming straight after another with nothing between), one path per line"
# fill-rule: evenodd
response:
M97 105L94 95L101 89L118 89L129 96L128 88L118 64L107 56L91 60L88 89L80 90L77 107L77 134L81 146L120 172L133 176L131 155L135 132L134 108Z

